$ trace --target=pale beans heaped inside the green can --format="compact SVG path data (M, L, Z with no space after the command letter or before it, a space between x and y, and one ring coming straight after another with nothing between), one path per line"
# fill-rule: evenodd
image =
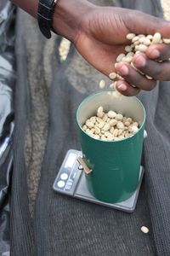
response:
M117 141L133 136L139 131L139 123L113 110L105 113L104 108L99 107L96 116L87 119L82 129L95 139Z

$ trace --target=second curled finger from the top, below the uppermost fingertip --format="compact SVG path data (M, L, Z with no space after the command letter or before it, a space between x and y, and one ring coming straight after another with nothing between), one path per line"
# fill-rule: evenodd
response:
M144 74L149 75L155 80L170 80L170 62L163 61L161 63L152 61L144 54L135 55L133 57L133 65Z

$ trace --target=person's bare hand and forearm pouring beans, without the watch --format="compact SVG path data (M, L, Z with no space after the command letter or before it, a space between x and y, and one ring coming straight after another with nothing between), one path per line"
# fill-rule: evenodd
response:
M37 0L14 0L22 9L37 16ZM116 71L124 80L116 81L116 89L125 96L139 90L152 90L156 80L170 80L170 44L152 44L146 53L133 57L133 65L153 80L146 79L127 62L116 64L116 57L130 44L129 32L151 34L160 32L170 38L170 22L137 10L116 7L98 7L85 0L59 0L53 16L54 31L76 45L80 54L105 75ZM116 65L115 65L116 64ZM136 87L134 88L133 85Z

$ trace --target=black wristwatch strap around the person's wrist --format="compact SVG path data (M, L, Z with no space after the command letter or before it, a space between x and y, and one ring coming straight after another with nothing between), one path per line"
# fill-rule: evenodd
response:
M51 38L52 15L54 6L58 0L39 0L37 9L37 21L42 34L46 38Z

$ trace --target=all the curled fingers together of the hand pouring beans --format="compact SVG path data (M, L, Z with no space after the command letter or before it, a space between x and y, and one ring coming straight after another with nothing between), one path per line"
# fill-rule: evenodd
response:
M170 61L157 62L168 59L169 56L170 45L155 44L150 46L146 54L140 53L133 56L134 68L127 62L116 63L116 73L123 78L116 82L116 90L124 96L134 96L139 93L139 90L154 89L156 80L170 80ZM144 75L153 79L147 79Z

